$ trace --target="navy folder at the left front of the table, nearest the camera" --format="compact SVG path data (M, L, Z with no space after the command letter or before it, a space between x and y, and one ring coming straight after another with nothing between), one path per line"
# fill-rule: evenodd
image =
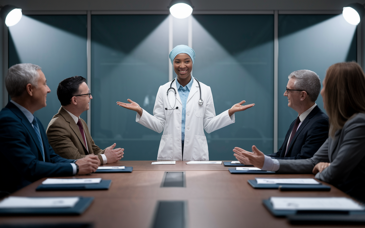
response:
M0 208L0 215L81 215L93 200L94 197L80 196L73 208Z

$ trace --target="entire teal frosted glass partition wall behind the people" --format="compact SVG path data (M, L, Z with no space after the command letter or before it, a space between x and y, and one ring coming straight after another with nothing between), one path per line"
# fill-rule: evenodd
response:
M210 160L235 160L235 146L265 154L274 148L274 15L91 15L91 134L105 148L125 149L124 160L155 160L162 133L135 122L136 113L116 101L137 102L153 113L157 90L176 75L169 49L196 52L193 77L212 89L216 115L246 100L255 107L235 114L235 123L211 134ZM278 16L278 147L297 113L283 96L288 75L299 69L323 80L336 62L356 61L356 26L342 15ZM26 37L26 38L24 38ZM59 81L87 75L87 16L24 16L9 27L9 66L42 67L52 90L35 113L45 128L60 104ZM316 102L323 109L322 98ZM86 121L86 112L81 116Z

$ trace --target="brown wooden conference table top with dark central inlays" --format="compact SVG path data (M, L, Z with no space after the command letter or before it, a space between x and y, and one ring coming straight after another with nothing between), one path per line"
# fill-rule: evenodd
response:
M159 200L185 200L187 227L190 228L296 227L285 218L273 217L262 200L271 196L349 197L333 186L330 192L280 192L253 189L247 183L255 177L314 178L312 174L231 174L230 167L223 166L223 162L222 165L187 165L187 161L177 161L176 165L151 165L151 162L119 161L105 165L132 166L132 173L93 173L74 177L111 179L109 190L36 192L37 186L46 179L42 178L11 196L92 196L95 199L80 216L0 216L0 225L93 223L95 228L150 228ZM165 171L185 171L186 187L161 188Z

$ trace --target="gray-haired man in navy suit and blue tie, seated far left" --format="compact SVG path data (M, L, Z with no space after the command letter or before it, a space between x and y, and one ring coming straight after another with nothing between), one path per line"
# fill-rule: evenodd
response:
M78 160L55 154L35 111L46 107L51 92L41 67L22 63L9 68L5 86L11 101L0 112L0 191L12 193L43 177L95 172L96 155Z

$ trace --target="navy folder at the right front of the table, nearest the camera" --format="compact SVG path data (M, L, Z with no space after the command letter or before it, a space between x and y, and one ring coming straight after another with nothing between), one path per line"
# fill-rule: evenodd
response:
M309 216L326 216L326 215L364 215L365 210L275 210L273 205L268 200L262 200L262 203L265 205L266 209L276 217L286 217L293 215L309 215Z

